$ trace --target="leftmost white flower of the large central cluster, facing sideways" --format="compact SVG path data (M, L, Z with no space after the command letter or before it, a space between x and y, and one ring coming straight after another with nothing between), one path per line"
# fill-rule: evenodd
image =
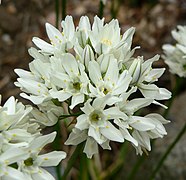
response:
M48 92L52 86L49 75L51 67L48 56L41 55L34 48L31 48L29 52L35 58L35 60L29 64L31 72L15 69L16 74L19 76L17 79L18 82L16 82L15 85L27 93L21 93L20 95L22 97L29 99L34 104L41 104L51 99Z

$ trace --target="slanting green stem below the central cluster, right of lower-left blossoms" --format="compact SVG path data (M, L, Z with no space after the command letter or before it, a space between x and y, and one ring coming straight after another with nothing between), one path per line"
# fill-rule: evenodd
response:
M66 169L64 171L64 174L63 174L61 179L63 179L63 180L66 179L66 177L67 177L68 173L70 172L70 170L72 169L78 155L82 152L83 145L84 145L84 143L81 143L81 144L78 144L76 146L76 149L73 152L72 156L70 157L70 159L68 161L68 164L67 164L67 167L66 167Z

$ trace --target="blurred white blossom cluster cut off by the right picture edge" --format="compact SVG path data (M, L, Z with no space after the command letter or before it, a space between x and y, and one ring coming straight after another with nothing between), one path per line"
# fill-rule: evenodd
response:
M162 57L171 73L186 77L186 26L179 25L177 29L172 31L176 44L163 45L164 55Z

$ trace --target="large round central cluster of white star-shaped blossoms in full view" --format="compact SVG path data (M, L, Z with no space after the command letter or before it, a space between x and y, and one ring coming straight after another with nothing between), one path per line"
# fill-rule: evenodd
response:
M171 97L154 84L165 70L152 68L159 56L146 61L133 57L135 29L121 35L117 20L104 24L95 16L91 26L83 16L75 28L67 16L61 26L62 32L46 23L50 43L34 37L38 49L29 50L34 58L30 71L15 70L15 85L24 92L20 95L38 106L32 110L35 122L52 126L75 113L65 144L85 141L88 158L98 153L98 145L111 149L110 141L130 141L137 154L150 151L150 140L166 135L163 124L169 121L156 113L143 117L135 112L152 103L165 107L159 100Z

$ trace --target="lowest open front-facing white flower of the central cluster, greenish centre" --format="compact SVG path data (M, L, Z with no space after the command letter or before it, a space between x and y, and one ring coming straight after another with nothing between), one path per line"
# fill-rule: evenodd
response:
M87 149L88 147L92 147L90 144L97 143L104 149L110 149L108 145L110 140L116 142L124 141L121 132L110 122L110 120L124 118L126 115L117 107L104 109L107 100L108 97L97 98L93 101L92 105L90 104L90 100L85 103L84 107L81 108L84 114L77 117L75 128L78 129L78 131L73 131L65 144L79 144L87 139L84 152L88 153L88 157L92 157L92 154L94 154L91 153L92 149ZM76 141L77 132L79 134L78 136L81 137L78 138L79 141ZM94 149L94 152L97 152L96 149Z

